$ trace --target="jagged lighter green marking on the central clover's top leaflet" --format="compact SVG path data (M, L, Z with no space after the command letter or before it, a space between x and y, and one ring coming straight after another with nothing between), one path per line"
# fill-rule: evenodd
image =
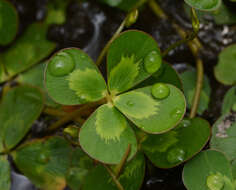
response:
M120 63L110 73L108 86L111 94L124 92L132 87L134 79L139 73L139 63L135 63L135 56L122 56Z

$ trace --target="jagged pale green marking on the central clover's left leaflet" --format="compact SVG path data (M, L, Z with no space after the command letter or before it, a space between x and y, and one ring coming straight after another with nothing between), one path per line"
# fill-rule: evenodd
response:
M97 101L106 95L106 83L93 69L75 70L69 76L69 87L87 101Z

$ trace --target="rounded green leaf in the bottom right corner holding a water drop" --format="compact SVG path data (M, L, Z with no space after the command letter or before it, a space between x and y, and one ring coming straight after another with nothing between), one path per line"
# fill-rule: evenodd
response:
M229 161L215 150L203 151L185 164L183 181L191 190L235 189Z

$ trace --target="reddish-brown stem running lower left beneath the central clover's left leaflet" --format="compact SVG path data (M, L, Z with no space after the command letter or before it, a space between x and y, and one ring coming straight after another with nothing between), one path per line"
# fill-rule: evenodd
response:
M61 118L60 120L53 123L51 126L48 127L48 131L54 131L54 130L60 128L62 125L66 124L66 123L70 122L71 120L75 119L76 117L78 117L85 110L87 110L91 107L96 107L96 106L101 105L105 102L106 102L106 99L102 99L102 100L97 101L97 102L93 102L93 103L90 103L90 104L83 105L79 109L65 115L63 118Z

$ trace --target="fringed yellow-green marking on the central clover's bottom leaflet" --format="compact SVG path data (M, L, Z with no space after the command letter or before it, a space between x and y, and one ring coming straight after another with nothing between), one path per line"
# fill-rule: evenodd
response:
M97 134L105 141L119 141L121 133L127 127L127 121L113 105L105 104L97 111L95 125Z

